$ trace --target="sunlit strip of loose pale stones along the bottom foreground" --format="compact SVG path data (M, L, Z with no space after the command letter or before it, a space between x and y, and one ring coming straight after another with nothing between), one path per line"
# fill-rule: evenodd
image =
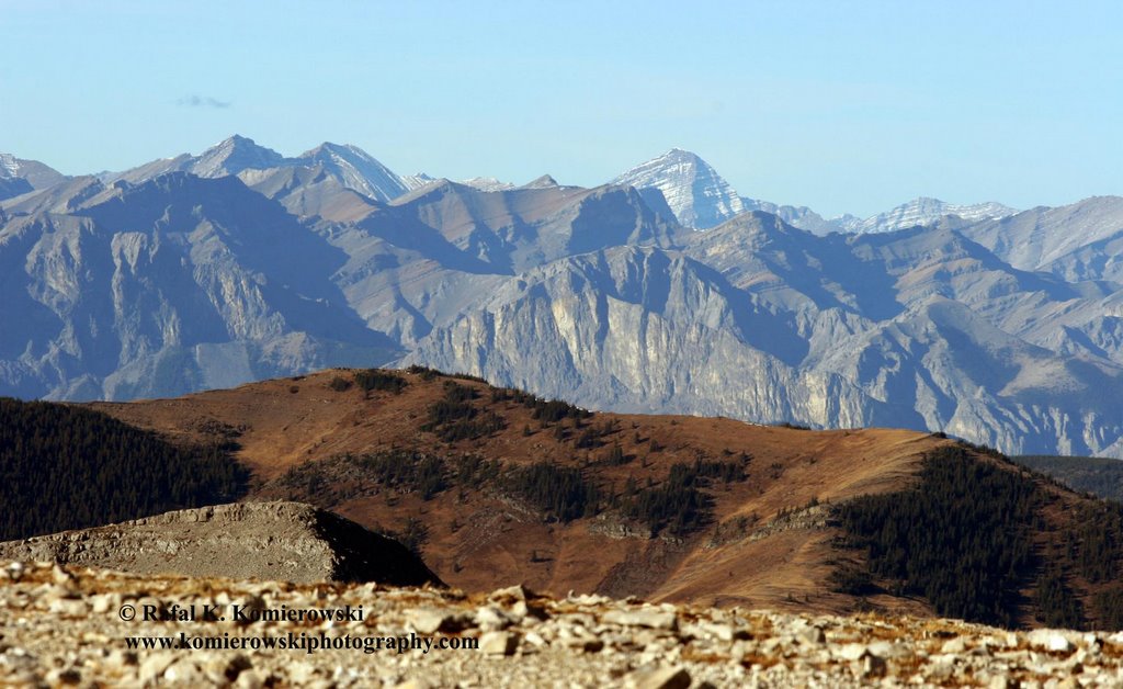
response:
M154 618L145 620L146 611ZM323 615L334 618L316 618ZM188 647L130 650L129 637L166 637ZM305 645L193 647L203 646L203 637L231 646L264 638ZM349 647L310 652L309 643ZM943 619L782 615L596 596L555 600L521 587L467 596L0 565L0 686L162 683L1123 686L1123 633L1012 633Z

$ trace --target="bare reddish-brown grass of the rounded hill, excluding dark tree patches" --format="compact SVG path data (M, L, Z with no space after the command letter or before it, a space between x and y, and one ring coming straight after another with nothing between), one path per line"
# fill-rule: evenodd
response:
M724 418L602 413L575 428L573 419L544 423L520 402L493 401L491 388L477 381L402 372L408 384L400 392L365 392L351 382L354 373L325 371L179 399L92 406L173 437L236 437L237 457L258 479L252 495L308 500L399 533L411 518L419 519L428 532L426 562L453 586L482 590L524 582L559 593L574 589L825 610L853 605L825 583L836 529L814 518L775 524L780 511L900 488L923 453L949 442L907 430L811 432ZM351 384L337 389L344 383L334 387L332 381ZM494 413L505 427L454 442L423 430L429 409L444 398L449 382L476 390L480 397L471 405ZM611 430L593 441L596 446L577 446L588 428L605 424ZM603 460L617 445L627 463L609 465ZM283 480L285 472L305 463L311 469L345 453L394 448L450 464L465 455L497 460L504 468L547 461L582 468L592 481L617 491L629 477L639 486L648 479L658 484L676 463L740 462L742 453L750 459L746 480L716 482L704 491L714 500L705 526L654 538L643 525L608 511L569 523L550 519L493 486L451 487L423 500L417 491L387 486L339 490L329 487L331 481L313 479L309 486L308 480ZM343 469L325 475L346 483ZM633 535L624 535L629 528ZM886 602L923 609L922 604Z

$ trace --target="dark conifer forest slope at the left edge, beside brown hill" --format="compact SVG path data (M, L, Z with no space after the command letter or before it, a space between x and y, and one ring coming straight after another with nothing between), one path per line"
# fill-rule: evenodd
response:
M0 541L231 501L232 442L176 445L90 409L0 399Z

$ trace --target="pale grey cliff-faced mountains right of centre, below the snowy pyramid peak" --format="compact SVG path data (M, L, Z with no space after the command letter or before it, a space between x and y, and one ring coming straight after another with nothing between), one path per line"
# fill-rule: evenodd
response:
M1115 293L1023 273L950 229L820 238L760 214L690 239L523 273L407 361L592 407L1123 456L1119 350L1050 339L1099 332Z

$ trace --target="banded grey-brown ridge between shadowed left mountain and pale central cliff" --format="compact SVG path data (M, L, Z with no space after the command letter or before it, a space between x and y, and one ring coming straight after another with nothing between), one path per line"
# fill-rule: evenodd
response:
M535 265L624 244L669 246L683 233L630 188L490 193L447 180L316 227L349 256L334 279L351 308L408 346Z

